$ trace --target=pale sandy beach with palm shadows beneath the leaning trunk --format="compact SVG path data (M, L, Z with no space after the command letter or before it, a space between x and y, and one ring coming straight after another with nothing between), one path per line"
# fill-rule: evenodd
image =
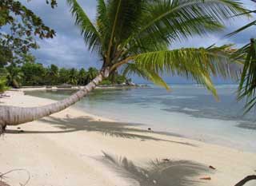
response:
M1 98L1 105L53 102L22 91L6 94L10 97ZM21 169L5 177L13 186L28 178L26 185L31 186L233 186L256 171L255 153L150 132L72 107L8 127L0 137L0 148L0 172Z

